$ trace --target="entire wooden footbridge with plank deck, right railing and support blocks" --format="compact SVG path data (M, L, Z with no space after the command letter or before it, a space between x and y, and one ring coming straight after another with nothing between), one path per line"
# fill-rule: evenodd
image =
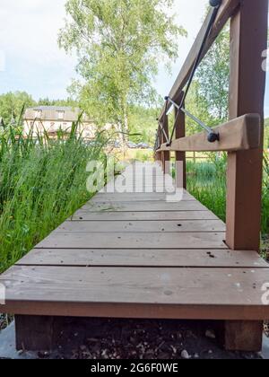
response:
M130 165L123 176L132 192L100 192L0 277L1 311L15 313L19 349L52 347L56 321L66 316L218 320L227 349L261 349L269 318L262 300L269 266L257 253L267 11L267 0L222 0L209 14L159 118L153 187L144 165L135 175ZM207 132L186 137L184 87L229 19L230 122L213 129L212 142ZM229 152L227 225L187 193L187 151ZM175 183L171 153L183 166ZM182 197L168 195L164 180Z

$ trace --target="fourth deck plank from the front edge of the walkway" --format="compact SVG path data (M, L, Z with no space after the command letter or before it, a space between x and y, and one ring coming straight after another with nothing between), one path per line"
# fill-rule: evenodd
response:
M221 220L195 221L67 221L55 232L225 232Z

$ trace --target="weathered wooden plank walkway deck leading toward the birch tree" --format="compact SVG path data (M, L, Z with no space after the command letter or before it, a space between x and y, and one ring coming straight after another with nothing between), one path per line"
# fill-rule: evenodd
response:
M158 165L159 166L159 165ZM124 173L129 177L128 169ZM24 315L264 320L269 267L233 251L225 224L184 191L99 193L0 277ZM118 177L117 180L122 180ZM142 180L138 176L137 180Z

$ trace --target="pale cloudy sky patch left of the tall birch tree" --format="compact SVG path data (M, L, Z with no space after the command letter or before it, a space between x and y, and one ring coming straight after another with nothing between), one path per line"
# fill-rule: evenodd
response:
M76 59L57 45L64 18L65 0L1 0L0 50L6 57L2 91L26 90L36 98L66 96Z

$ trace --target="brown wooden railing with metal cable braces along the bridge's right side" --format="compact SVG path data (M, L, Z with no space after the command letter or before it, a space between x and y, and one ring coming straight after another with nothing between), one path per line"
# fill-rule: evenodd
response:
M210 3L218 6L220 2L211 0ZM158 119L155 159L167 171L170 152L176 152L176 161L183 164L183 186L186 187L187 151L227 151L226 242L232 250L259 250L265 101L262 52L267 47L268 0L222 0L204 40L213 12L214 9L208 14L169 96L166 97L166 104ZM229 21L230 122L214 128L219 137L212 143L206 132L186 137L186 111L182 103L185 87L193 75L197 60L198 63L202 61ZM171 106L175 107L173 139L169 136L167 115Z

